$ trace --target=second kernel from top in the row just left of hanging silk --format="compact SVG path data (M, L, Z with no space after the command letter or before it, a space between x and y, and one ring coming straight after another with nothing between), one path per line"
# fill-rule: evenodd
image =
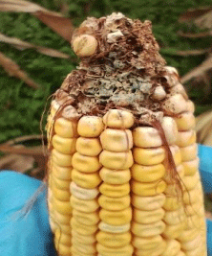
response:
M157 165L165 158L165 150L162 147L153 149L134 148L135 161L140 165Z

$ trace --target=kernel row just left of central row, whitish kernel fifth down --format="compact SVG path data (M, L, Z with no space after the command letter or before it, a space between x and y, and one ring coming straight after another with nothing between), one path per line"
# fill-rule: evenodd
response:
M73 156L71 184L71 205L73 207L72 255L96 255L96 237L98 228L98 185L101 182L98 154L102 151L99 135L103 130L100 117L83 116L78 121L77 131L80 137L76 141Z

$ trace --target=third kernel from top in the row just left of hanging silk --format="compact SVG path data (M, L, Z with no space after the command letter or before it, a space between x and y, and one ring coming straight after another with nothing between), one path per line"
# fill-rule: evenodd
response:
M162 164L151 166L134 164L131 172L132 177L139 182L154 182L165 175L165 167Z

